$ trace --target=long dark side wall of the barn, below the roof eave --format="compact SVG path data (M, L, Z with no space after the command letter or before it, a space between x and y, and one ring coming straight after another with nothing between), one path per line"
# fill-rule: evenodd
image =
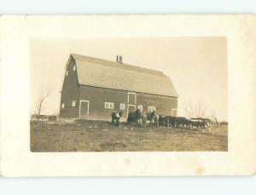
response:
M90 101L89 118L110 120L111 113L120 110L120 104L125 104L123 119L127 117L128 91L80 85L80 98ZM104 108L105 102L113 102L113 109ZM145 112L148 106L155 106L157 112L171 115L172 108L177 109L177 98L137 93L138 105L142 105Z

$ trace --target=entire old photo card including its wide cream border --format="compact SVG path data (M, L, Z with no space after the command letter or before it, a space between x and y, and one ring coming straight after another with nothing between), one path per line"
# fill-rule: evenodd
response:
M3 16L1 174L253 175L255 19Z

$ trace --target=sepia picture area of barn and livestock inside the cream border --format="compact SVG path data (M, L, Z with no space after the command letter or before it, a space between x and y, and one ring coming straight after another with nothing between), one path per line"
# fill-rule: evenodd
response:
M227 37L30 40L31 152L227 152Z

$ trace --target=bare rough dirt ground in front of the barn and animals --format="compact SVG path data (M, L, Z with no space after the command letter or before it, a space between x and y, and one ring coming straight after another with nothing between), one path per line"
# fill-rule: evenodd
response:
M207 131L115 127L102 121L77 123L31 122L32 152L171 152L228 151L228 125Z

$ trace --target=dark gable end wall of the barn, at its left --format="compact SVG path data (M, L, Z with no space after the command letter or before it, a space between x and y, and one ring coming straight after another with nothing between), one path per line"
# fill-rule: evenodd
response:
M61 118L79 118L79 81L77 68L73 71L73 66L75 66L75 60L71 57L67 65L68 74L66 76L66 71L61 89L61 104L65 104L64 108L60 105ZM72 106L73 100L76 100L75 106Z

